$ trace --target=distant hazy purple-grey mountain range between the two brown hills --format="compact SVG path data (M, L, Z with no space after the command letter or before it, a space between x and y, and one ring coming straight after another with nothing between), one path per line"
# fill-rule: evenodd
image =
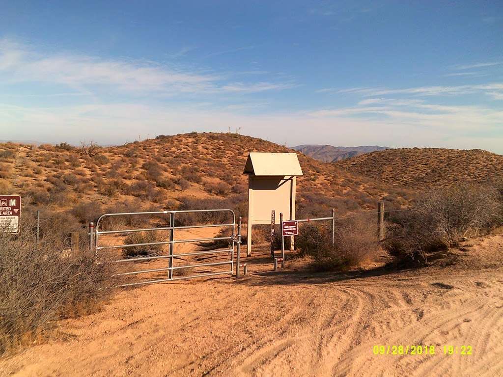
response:
M334 147L332 145L303 144L293 147L293 149L304 153L306 156L315 158L323 162L336 162L347 158L359 156L364 153L375 152L377 150L390 149L378 145L361 145L359 147Z

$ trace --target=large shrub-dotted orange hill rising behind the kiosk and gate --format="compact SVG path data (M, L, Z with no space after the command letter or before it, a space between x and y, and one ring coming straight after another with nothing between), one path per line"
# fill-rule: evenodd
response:
M249 136L195 132L85 150L65 143L5 143L0 144L0 185L3 193L19 193L34 205L64 209L125 201L173 209L183 198L245 202L242 170L249 151L294 152ZM298 180L297 204L307 213L371 209L382 197L402 206L411 198L405 190L333 164L303 154L299 160L304 176Z

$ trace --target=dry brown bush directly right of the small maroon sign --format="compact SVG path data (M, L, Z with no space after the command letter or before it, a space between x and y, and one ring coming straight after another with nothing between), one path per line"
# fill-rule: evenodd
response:
M379 251L375 222L355 218L336 223L332 246L330 228L320 224L303 224L295 245L301 255L312 257L318 271L348 270L374 260Z

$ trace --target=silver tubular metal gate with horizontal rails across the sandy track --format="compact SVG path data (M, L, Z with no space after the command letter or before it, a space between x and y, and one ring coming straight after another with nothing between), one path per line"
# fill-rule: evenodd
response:
M228 212L228 213L232 214L232 223L175 226L175 214L203 213L203 212ZM107 217L134 216L134 215L167 215L167 214L170 215L170 224L169 224L169 226L166 226L166 227L144 228L144 229L125 229L125 230L106 230L106 231L100 230L100 225L102 223L102 220ZM234 267L234 243L238 242L238 238L239 238L239 235L235 234L235 225L236 225L236 216L234 214L234 211L232 211L230 209L109 213L109 214L105 214L105 215L100 216L100 218L96 222L96 231L94 232L96 235L94 247L95 247L96 253L98 253L100 250L103 250L103 249L115 249L115 248L125 248L125 247L148 246L148 245L164 245L164 244L170 245L169 255L133 257L133 258L124 258L124 259L115 260L114 261L115 263L136 262L136 261L145 261L145 260L153 260L153 259L168 259L169 260L168 267L144 269L144 270L123 272L123 273L116 274L116 276L119 276L119 275L133 275L133 274L139 274L139 273L167 271L167 273L168 273L167 278L146 280L146 281L139 281L139 282L130 282L127 284L122 284L122 285L120 285L120 287L145 285L145 284L152 284L152 283L162 282L162 281L190 279L190 278L195 278L195 277L222 275L222 274L227 274L227 273L232 274L233 267ZM196 239L188 239L188 240L182 240L182 239L176 240L175 239L175 230L177 230L177 229L182 230L182 229L216 228L216 227L232 227L232 236L230 236L230 237L213 237L213 238L196 238ZM149 231L159 231L159 230L169 230L170 231L170 240L169 241L161 241L161 242L147 242L147 243L123 244L123 245L112 245L112 246L100 246L100 244L99 244L100 235L102 235L102 234L149 232ZM177 243L192 243L192 242L217 241L217 240L229 240L229 248L219 249L219 250L210 250L210 251L194 251L194 252L181 253L181 254L174 253L174 246ZM230 260L226 260L223 262L198 263L198 264L187 264L187 265L183 265L183 266L173 266L173 259L174 258L179 258L182 256L205 255L205 254L214 254L214 253L223 253L223 252L227 252L228 254L230 254ZM199 273L199 274L194 274L194 275L190 275L190 276L173 277L174 270L180 270L180 269L184 269L184 268L204 267L204 266L218 266L218 265L225 265L225 264L230 264L229 270L219 271L219 272Z

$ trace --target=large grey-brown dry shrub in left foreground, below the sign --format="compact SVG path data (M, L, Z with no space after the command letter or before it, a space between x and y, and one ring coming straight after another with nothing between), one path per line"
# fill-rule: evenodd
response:
M0 232L0 353L44 337L58 319L95 311L112 293L112 263L87 249L63 252L54 237L36 245L32 229L25 221L20 235Z

